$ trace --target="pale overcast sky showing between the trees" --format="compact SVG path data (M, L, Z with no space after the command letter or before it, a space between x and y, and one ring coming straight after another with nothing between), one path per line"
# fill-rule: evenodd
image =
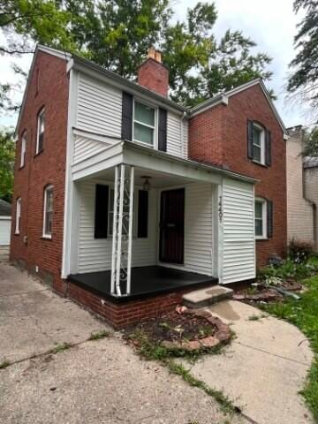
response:
M195 4L193 0L173 0L172 7L178 19L186 16L186 8ZM274 72L271 81L267 82L276 95L276 108L286 126L309 124L310 117L306 117L306 109L293 106L285 100L284 86L288 75L288 64L295 55L293 37L296 34L296 25L300 16L292 11L292 0L267 0L265 3L256 0L216 0L218 19L216 21L216 37L222 36L226 29L241 30L257 43L257 51L266 52L273 58L269 65ZM1 42L0 35L0 42ZM255 50L255 51L256 51ZM32 57L23 57L19 64L28 69ZM15 81L11 72L10 60L0 57L1 82ZM16 94L17 98L21 94ZM0 125L15 125L16 116L0 117Z

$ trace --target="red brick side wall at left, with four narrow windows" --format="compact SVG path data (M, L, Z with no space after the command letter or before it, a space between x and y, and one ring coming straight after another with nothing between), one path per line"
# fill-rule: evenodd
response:
M16 147L14 194L11 226L11 261L23 263L41 276L49 276L57 290L60 280L66 158L67 104L69 81L63 59L38 52ZM45 107L45 134L42 153L35 155L37 114ZM21 134L27 131L26 164L19 169ZM52 239L42 239L43 190L54 187ZM15 235L15 201L21 198L20 234ZM27 244L24 237L27 236Z

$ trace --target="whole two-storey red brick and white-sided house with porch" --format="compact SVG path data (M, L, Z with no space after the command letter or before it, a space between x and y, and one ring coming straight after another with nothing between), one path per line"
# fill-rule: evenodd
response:
M154 49L135 83L38 46L19 114L11 261L118 327L285 254L287 133L261 79L188 110L168 78Z

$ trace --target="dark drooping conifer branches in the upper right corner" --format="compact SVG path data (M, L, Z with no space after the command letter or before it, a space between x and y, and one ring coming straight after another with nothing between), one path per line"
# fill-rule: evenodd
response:
M287 90L302 101L318 108L318 1L295 0L294 11L306 10L305 18L299 23L299 32L294 38L299 49L290 66L293 72L288 80Z

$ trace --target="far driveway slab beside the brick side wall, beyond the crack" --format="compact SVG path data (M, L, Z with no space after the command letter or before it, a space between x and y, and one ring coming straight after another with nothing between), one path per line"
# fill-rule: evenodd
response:
M6 264L0 264L0 317L0 362L47 352L57 343L79 343L107 329L72 301Z

